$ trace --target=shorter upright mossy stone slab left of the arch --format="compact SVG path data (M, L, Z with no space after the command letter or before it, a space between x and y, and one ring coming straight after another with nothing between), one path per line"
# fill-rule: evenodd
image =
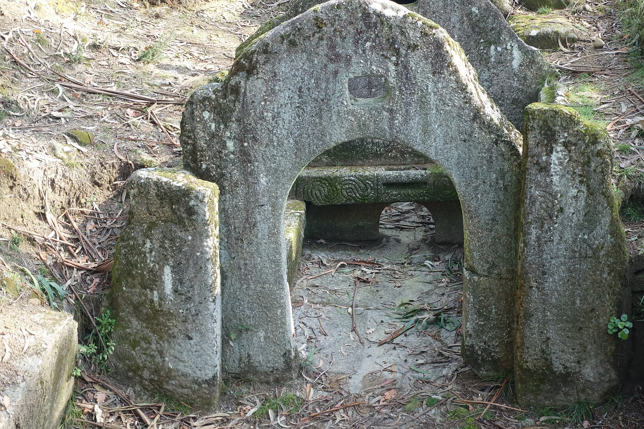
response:
M218 188L164 169L138 170L128 186L132 203L110 291L113 374L134 388L214 408L222 340Z

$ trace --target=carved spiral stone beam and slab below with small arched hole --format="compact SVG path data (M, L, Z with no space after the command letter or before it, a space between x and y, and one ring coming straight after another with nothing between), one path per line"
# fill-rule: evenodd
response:
M289 197L307 203L307 238L379 239L383 209L409 201L430 210L437 243L463 242L459 196L437 164L307 167Z

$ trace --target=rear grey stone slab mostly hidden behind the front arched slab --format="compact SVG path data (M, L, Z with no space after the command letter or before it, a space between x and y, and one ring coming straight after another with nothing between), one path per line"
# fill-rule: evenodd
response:
M240 44L237 55L271 28L321 3L298 0ZM527 46L489 0L418 0L406 5L444 28L465 51L480 84L515 127L523 126L524 108L536 102L545 78L556 75L543 55Z

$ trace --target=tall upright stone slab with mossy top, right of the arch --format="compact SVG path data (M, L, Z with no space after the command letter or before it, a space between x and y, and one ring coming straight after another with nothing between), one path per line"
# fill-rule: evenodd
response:
M516 394L553 406L617 387L618 314L627 261L603 126L560 105L526 109L519 248Z

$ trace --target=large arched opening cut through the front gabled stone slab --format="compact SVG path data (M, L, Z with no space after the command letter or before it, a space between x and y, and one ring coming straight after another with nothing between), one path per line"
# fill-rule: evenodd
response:
M416 364L428 371L424 377L446 381L462 363L455 346L462 338L462 215L451 179L406 145L357 139L311 161L290 197L303 199L306 212L301 259L289 269L301 358L320 371L354 374L347 388L360 392L390 376L383 367L409 370L409 350L431 355L451 345L441 365ZM293 204L285 213L287 265Z

